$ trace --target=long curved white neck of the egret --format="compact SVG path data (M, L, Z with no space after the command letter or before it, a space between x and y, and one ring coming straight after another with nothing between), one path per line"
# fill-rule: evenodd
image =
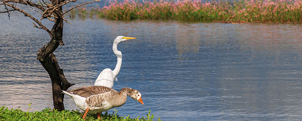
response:
M112 50L114 52L114 54L116 55L117 58L117 63L115 65L115 68L113 70L113 75L114 77L116 77L116 75L118 74L119 70L121 69L121 65L122 65L122 52L117 50L117 44L119 42L114 41L113 42L113 46L112 46Z

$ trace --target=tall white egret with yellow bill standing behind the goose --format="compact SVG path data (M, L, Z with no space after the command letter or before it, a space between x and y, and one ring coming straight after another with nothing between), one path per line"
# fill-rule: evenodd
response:
M126 40L136 39L134 37L124 37L124 36L117 36L112 45L112 50L117 58L117 63L115 68L111 70L110 68L105 68L101 71L100 75L98 76L95 86L106 86L106 87L113 87L114 80L117 81L117 74L122 65L122 52L117 50L117 44Z

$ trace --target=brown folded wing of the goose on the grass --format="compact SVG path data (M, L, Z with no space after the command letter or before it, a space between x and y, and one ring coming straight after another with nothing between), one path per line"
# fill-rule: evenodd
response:
M90 86L90 87L82 87L74 90L69 90L68 92L74 94L74 95L79 95L82 97L90 97L92 95L98 95L98 94L103 94L106 92L113 91L112 88L105 87L105 86Z

